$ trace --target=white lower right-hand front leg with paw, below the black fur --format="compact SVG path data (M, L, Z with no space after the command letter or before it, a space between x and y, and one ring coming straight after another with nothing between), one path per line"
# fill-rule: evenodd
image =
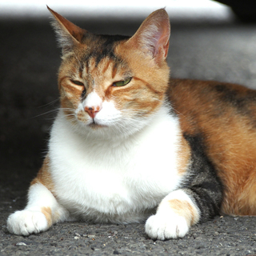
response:
M188 194L176 190L162 200L157 213L146 221L146 234L152 239L182 238L200 218L200 210Z

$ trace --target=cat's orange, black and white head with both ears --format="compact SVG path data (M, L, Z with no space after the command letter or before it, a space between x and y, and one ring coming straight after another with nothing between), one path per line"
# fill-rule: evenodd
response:
M58 84L66 118L86 133L126 136L142 129L168 86L166 10L150 14L131 38L92 34L50 12L62 47Z

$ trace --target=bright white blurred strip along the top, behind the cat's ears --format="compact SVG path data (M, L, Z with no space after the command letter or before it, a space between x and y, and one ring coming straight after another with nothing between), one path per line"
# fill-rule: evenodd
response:
M166 7L171 18L230 18L230 8L211 0L159 0L159 1L58 1L58 0L10 0L0 2L0 15L4 18L46 18L49 16L46 5L63 15L75 15L81 18L118 17L128 18L147 15Z

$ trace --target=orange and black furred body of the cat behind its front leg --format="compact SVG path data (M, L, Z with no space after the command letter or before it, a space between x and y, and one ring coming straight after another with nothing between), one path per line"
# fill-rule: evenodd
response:
M250 207L256 202L256 91L222 82L171 79L168 97L182 133L199 138L222 179L222 210L256 214Z

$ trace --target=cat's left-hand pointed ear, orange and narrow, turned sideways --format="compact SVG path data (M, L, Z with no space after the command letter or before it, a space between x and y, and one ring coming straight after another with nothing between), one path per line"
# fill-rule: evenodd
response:
M82 30L80 27L62 17L62 15L56 13L54 10L51 10L49 6L47 6L47 8L50 10L51 14L54 15L52 26L56 31L58 42L62 47L62 54L66 54L70 52L75 45L82 42L82 38L87 31Z

